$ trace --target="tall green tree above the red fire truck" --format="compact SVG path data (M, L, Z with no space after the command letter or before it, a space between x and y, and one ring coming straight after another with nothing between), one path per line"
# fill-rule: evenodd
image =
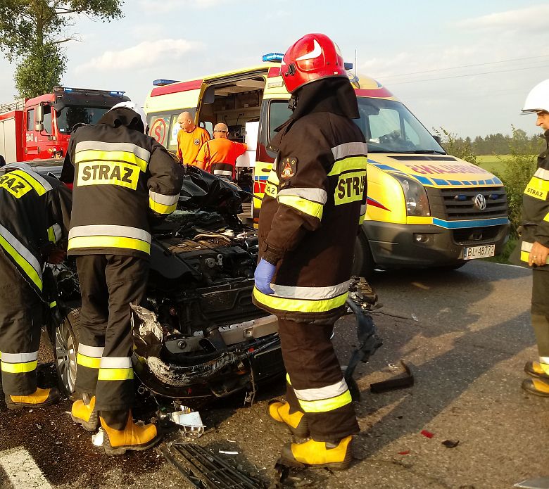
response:
M1 0L0 49L16 63L20 96L51 91L61 83L67 58L61 45L77 15L112 20L122 17L122 0Z

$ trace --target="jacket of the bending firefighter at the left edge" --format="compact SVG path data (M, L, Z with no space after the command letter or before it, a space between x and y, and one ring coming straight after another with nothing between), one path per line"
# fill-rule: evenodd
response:
M1 253L43 300L44 260L67 238L71 204L65 185L25 163L6 166L0 177Z

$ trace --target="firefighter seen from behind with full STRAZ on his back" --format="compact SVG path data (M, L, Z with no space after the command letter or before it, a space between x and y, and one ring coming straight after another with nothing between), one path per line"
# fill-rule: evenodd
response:
M130 303L146 292L151 224L177 205L182 170L146 132L141 108L122 102L72 134L62 179L73 184L68 255L76 257L82 310L72 419L99 422L106 453L145 450L156 426L134 424ZM98 421L99 417L99 421Z

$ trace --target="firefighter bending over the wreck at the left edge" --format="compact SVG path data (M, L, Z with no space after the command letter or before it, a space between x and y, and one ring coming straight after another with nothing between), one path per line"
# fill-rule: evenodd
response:
M0 360L6 405L42 407L56 388L37 387L36 367L46 296L44 262L60 263L72 196L58 179L27 164L8 165L0 177Z

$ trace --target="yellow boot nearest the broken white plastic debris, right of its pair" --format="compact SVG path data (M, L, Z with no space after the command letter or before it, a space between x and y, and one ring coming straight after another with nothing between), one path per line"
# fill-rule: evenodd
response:
M155 425L139 426L134 424L131 411L127 415L126 426L122 430L108 426L102 414L99 416L99 420L105 431L103 447L105 447L107 455L124 455L126 450L146 450L156 445L161 439Z

